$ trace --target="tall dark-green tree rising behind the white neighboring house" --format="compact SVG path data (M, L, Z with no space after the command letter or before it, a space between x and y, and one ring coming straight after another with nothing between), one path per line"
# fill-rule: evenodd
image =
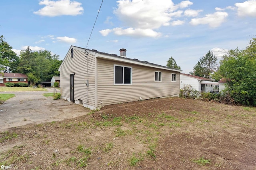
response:
M216 61L217 57L211 51L208 51L194 66L195 76L210 78L211 73L217 68Z

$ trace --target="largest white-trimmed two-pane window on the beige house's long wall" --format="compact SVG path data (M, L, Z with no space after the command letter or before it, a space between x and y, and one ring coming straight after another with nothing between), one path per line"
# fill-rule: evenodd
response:
M114 84L132 84L132 67L114 64Z

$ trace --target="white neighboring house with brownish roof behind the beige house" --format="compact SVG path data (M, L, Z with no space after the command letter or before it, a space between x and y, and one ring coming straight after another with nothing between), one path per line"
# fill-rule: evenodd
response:
M183 89L187 85L190 85L193 90L197 90L198 92L218 92L219 89L219 83L214 82L214 80L180 73L180 89Z

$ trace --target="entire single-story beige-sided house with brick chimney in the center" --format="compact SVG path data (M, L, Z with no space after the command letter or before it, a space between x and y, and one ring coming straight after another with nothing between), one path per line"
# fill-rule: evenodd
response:
M180 72L148 61L71 46L60 71L63 99L95 109L110 104L179 96Z

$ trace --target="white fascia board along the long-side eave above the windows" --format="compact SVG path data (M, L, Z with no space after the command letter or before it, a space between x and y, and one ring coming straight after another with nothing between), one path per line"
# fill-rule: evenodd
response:
M102 55L102 54L98 54L96 53L95 57L97 58L102 58L102 59L109 59L109 60L113 60L113 61L120 61L120 62L124 62L124 63L130 63L130 64L136 64L136 65L141 65L141 66L148 66L148 67L153 67L153 68L159 68L159 69L164 69L164 70L170 70L170 71L175 71L175 72L182 72L182 70L175 70L172 68L165 68L165 67L161 67L161 66L154 66L151 64L146 64L146 63L140 63L138 61L134 61L134 60L127 60L127 59L122 59L122 58L117 58L117 57L112 57L112 56L106 56L106 55Z

